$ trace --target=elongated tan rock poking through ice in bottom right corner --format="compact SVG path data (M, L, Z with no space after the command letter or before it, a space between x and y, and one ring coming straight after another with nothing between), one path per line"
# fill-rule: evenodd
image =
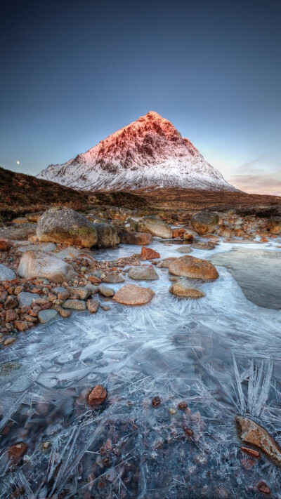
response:
M242 441L261 449L268 458L272 459L277 465L281 465L281 449L263 427L243 416L235 416L235 422L238 435Z

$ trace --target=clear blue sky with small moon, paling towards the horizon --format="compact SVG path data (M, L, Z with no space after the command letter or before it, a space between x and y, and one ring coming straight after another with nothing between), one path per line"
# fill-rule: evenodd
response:
M2 1L0 166L35 175L152 110L235 187L280 192L280 19L272 0Z

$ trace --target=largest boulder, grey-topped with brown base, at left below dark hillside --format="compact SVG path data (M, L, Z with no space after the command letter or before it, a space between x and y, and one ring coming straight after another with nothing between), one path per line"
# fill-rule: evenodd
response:
M91 248L98 235L93 224L71 208L51 208L45 211L37 223L39 241L73 244Z

